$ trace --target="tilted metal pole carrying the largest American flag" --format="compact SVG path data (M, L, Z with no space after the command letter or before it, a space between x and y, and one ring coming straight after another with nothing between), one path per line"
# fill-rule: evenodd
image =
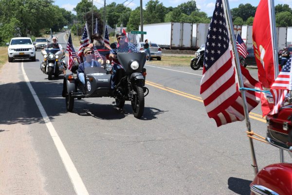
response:
M232 50L233 53L235 55L235 63L237 66L237 75L238 75L238 81L239 81L239 87L244 87L243 85L243 81L242 81L242 76L241 76L241 69L240 69L240 63L239 63L239 57L238 57L238 53L237 53L237 46L236 46L236 42L234 39L234 29L233 29L233 22L231 19L231 12L229 9L229 3L228 0L222 0L223 3L223 7L224 7L224 13L225 13L225 17L226 17L226 22L227 22L227 29L229 31L229 37L230 37L230 41L232 43ZM232 26L232 27L231 27ZM245 96L245 91L244 90L240 90L241 93L241 97L242 97L242 101L243 101L243 110L244 110L244 116L245 116L245 121L246 121L246 127L248 132L251 132L251 123L249 120L249 112L248 112L248 107L247 107L247 101L246 101L246 96ZM255 171L255 175L258 172L258 168L257 168L257 164L256 164L256 154L255 154L255 148L254 148L254 143L253 143L253 139L251 137L249 137L250 140L250 147L251 147L251 151L252 151L252 158L253 158L253 167L254 167L254 171Z

